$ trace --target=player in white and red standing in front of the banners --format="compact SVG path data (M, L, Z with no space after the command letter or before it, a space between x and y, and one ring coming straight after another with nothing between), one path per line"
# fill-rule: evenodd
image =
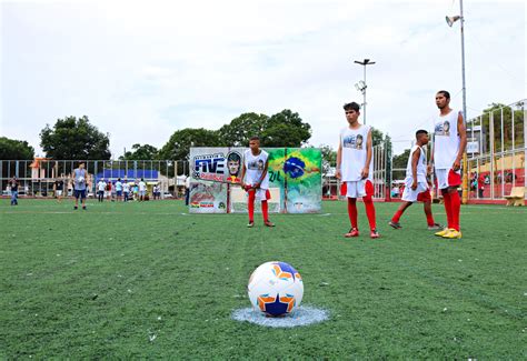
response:
M241 187L249 194L249 224L248 228L255 227L255 199L261 201L261 213L264 215L264 224L266 227L275 227L269 221L269 205L267 200L270 199L269 193L269 154L260 149L260 138L252 137L249 140L249 150L243 154L243 168L241 169Z

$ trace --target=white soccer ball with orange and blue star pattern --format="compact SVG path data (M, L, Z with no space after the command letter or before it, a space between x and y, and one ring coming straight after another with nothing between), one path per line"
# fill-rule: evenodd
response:
M286 262L266 262L250 275L248 285L252 307L271 317L291 313L300 305L304 282L300 273Z

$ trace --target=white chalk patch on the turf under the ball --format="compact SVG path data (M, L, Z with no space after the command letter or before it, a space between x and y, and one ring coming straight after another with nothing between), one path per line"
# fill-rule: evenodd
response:
M329 312L309 305L300 305L292 312L280 318L266 317L264 312L252 308L239 309L232 312L232 319L240 322L250 322L268 328L296 328L319 323L329 319Z

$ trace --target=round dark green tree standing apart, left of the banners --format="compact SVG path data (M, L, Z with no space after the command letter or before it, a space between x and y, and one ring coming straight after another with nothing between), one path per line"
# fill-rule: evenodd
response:
M53 159L107 160L110 159L109 134L90 124L88 117L58 119L53 128L46 124L40 131L40 147Z

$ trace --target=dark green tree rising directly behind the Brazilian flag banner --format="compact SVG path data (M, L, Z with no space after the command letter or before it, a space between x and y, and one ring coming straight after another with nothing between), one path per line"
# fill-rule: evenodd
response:
M264 147L297 148L311 138L311 126L289 109L271 116L266 126L260 137Z

